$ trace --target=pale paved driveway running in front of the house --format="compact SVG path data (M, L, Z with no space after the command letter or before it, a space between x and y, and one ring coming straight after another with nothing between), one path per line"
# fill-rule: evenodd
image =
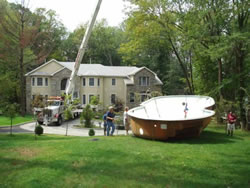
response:
M49 126L42 126L44 128L44 133L46 134L58 134L58 135L65 135L66 134L66 127L68 124L68 135L70 136L89 136L89 129L88 128L76 128L74 125L80 124L80 118L70 120L67 122L63 122L61 126L56 125L49 125ZM100 128L94 128L95 135L96 136L103 136L104 131L102 128L102 123L99 123L98 121L94 121L95 126L98 126ZM21 125L20 128L24 129L25 131L34 131L36 123L27 123L24 125ZM129 131L129 134L132 134L131 131ZM125 130L115 130L114 135L126 135Z

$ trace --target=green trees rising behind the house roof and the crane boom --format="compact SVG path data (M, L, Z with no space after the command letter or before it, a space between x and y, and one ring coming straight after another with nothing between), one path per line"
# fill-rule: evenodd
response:
M67 61L75 61L85 30L86 24L79 26L63 42ZM117 49L123 38L121 29L108 26L106 20L97 22L89 39L88 49L82 63L120 65L121 57L117 53Z

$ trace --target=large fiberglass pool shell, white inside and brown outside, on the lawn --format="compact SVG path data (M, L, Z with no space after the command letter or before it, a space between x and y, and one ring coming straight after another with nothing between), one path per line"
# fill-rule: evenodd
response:
M197 137L210 123L214 99L208 96L174 95L152 98L128 111L135 136L167 140Z

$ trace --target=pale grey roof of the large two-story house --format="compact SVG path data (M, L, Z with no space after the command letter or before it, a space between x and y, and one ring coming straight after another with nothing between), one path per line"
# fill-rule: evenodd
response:
M49 62L41 65L40 67L34 69L33 71L27 73L25 76L53 76L56 72L61 71L62 69L56 71L55 73L48 74L44 72L39 72L39 69L46 66L47 64L55 62L61 65L62 69L69 69L73 71L74 69L74 62L60 62L57 60L50 60ZM133 84L133 81L129 78L131 75L135 75L137 72L147 69L148 71L152 72L155 75L155 78L159 84L162 84L161 80L157 77L157 75L146 67L135 67L135 66L104 66L101 64L81 64L78 76L103 76L103 77L125 77L127 84ZM130 81L129 81L130 80Z

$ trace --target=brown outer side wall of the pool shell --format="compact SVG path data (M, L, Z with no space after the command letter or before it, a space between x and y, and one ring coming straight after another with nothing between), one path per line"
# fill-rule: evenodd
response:
M131 117L130 123L135 136L167 140L168 138L198 137L210 121L211 117L185 121L157 121Z

